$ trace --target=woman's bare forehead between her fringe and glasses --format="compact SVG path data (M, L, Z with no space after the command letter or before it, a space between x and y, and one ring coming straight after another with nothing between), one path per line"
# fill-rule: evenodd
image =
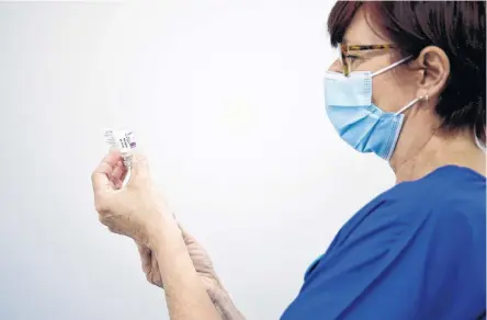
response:
M378 27L374 25L374 16L360 8L347 27L343 44L380 45L384 43L388 43L388 39L378 33Z

